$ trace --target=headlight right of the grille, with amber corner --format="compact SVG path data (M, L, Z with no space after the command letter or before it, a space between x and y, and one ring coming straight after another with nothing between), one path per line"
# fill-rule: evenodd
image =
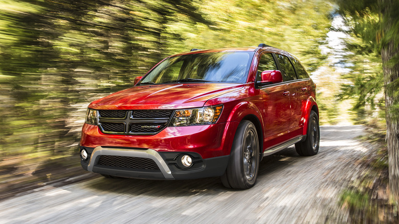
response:
M219 118L222 109L223 105L176 110L169 126L214 124Z

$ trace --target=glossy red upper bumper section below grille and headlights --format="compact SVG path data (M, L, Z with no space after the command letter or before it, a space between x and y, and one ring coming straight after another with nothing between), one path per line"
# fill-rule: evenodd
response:
M80 145L96 148L154 149L157 152L194 152L203 159L229 155L238 122L185 127L166 127L156 135L126 136L102 133L95 125L84 124Z

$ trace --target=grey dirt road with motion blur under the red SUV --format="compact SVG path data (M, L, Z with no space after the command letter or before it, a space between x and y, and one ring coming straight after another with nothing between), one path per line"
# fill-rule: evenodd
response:
M360 171L363 126L321 127L319 154L293 147L264 158L249 190L219 178L106 179L47 186L0 203L0 223L325 223L345 222L338 195Z

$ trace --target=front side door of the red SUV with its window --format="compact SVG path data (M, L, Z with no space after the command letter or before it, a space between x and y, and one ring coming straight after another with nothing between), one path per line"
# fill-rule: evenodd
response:
M272 53L260 54L256 81L266 70L278 70ZM287 95L287 84L276 83L258 87L263 99L264 109L264 148L287 140L286 133L290 126L290 96Z

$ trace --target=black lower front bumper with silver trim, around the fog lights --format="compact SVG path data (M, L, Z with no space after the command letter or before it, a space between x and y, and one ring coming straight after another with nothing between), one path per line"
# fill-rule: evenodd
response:
M188 180L224 174L229 162L229 155L202 159L195 152L157 152L153 149L138 148L112 148L98 146L96 148L80 147L88 152L87 160L82 160L83 169L101 174L142 178L150 180ZM178 164L180 155L188 154L193 158L193 164L189 168L181 168ZM114 158L145 158L152 160L158 169L131 168L124 165L100 164L100 156L115 156ZM120 156L120 157L119 157ZM143 166L145 167L145 166Z

